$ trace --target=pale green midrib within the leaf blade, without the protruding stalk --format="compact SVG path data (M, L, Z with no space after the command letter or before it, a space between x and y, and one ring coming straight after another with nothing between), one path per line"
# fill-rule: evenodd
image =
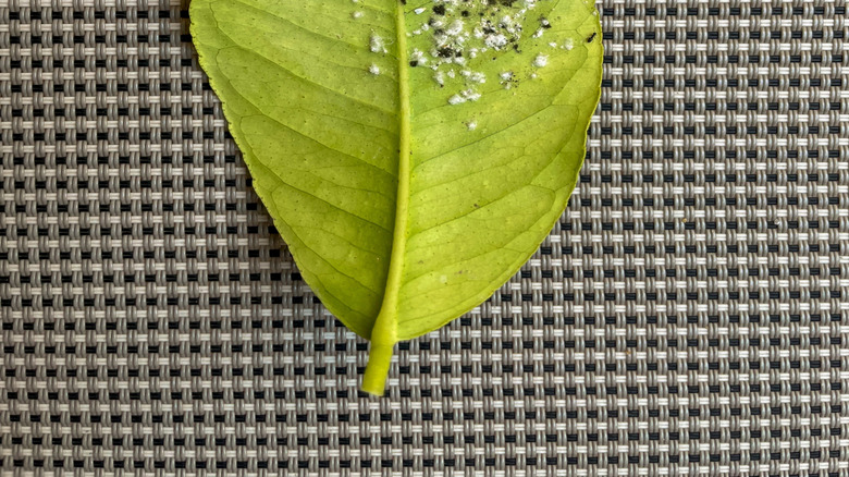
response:
M407 248L410 180L410 106L409 69L407 68L407 26L404 2L395 1L395 45L398 59L398 188L395 195L395 225L392 236L386 289L380 313L371 328L372 345L393 346L397 342L398 293L404 254Z

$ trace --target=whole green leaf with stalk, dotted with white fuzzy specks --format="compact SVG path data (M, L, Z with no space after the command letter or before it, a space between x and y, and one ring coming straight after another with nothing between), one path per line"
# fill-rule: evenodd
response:
M371 340L487 299L563 213L602 66L583 0L193 0L200 65L307 283Z

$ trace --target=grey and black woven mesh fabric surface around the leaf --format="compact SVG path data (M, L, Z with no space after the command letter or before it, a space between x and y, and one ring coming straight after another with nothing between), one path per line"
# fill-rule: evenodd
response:
M571 205L385 399L187 5L0 0L0 473L849 475L842 0L605 0Z

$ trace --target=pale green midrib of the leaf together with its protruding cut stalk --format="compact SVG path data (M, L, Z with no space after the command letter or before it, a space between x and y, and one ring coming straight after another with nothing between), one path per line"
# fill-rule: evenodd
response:
M409 108L409 66L407 64L407 24L404 3L396 0L395 45L398 57L398 189L395 196L395 228L392 237L386 289L383 304L371 328L371 352L366 375L362 377L362 390L383 395L392 360L392 348L397 340L398 291L404 268L404 253L407 246L407 216L409 215L410 176L410 108Z

